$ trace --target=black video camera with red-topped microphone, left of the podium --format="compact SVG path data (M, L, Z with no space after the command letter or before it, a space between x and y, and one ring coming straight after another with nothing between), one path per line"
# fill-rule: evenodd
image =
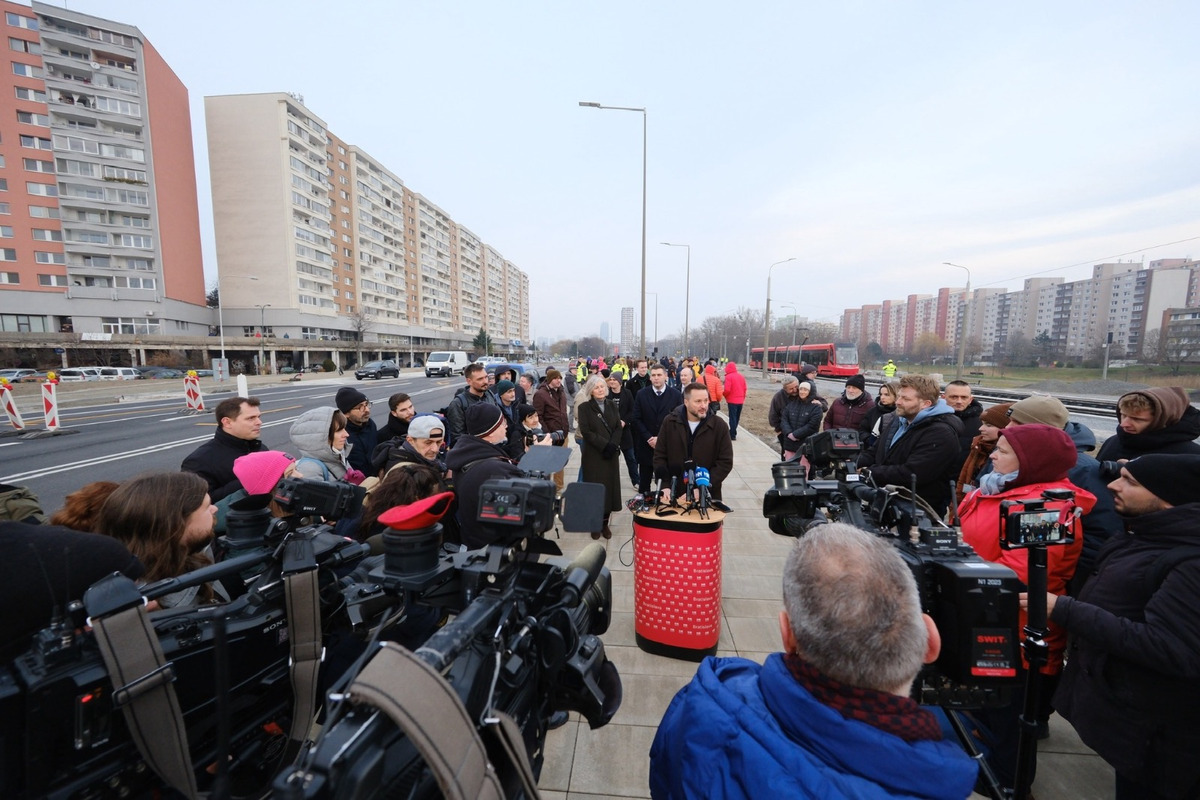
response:
M522 459L527 471L560 468L542 461L557 459L562 449L535 450L553 452L535 453L528 465ZM564 528L599 528L602 497L602 486L569 486L562 504ZM528 754L535 780L553 712L578 711L595 728L606 724L620 704L617 668L598 638L608 627L611 575L602 566L605 551L599 545L590 545L571 563L538 559L539 553L562 555L553 542L541 537L553 524L557 505L550 481L486 481L480 488L478 519L497 531L497 540L479 551L439 549L437 519L449 499L449 494L439 495L424 507L414 504L380 516L392 528L383 535L385 554L366 581L347 587L349 615L356 630L368 632L394 619L395 606L383 607L400 600L408 607L428 604L458 613L415 651L415 657L442 674L461 711L421 720L420 733L437 739L440 730L455 741L482 740L504 796L517 796L522 770L516 762L521 759L514 758L498 736L490 735L499 720L515 723L518 747ZM366 680L376 660L384 658L389 660L386 667ZM426 735L406 729L401 710L389 714L389 703L371 699L378 694L377 675L410 669L395 680L398 693L420 678L421 669L413 669L389 646L368 649L362 661L361 676L350 670L330 694L334 705L319 739L276 781L278 796L442 796L439 782L445 776L426 758L431 754Z

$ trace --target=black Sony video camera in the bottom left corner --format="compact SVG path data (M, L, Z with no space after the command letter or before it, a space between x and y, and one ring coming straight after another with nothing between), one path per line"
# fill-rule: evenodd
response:
M300 506L323 507L322 486L295 481L288 493ZM286 602L289 579L316 572L313 583L329 599L322 610L332 613L342 603L334 570L368 548L328 525L272 521L253 507L265 499L242 503L223 537L230 554L223 561L140 588L119 575L104 578L0 668L0 796L118 798L161 789L167 781L148 766L126 717L157 686L175 698L174 744L194 768L192 781L211 782L205 768L215 765L229 778L224 786L241 793L265 787L280 770L296 696L288 679L296 624ZM110 678L116 673L100 640L108 622L131 609L137 618L144 601L218 582L230 589L230 602L145 616L142 638L154 640L161 664L126 660L122 678Z

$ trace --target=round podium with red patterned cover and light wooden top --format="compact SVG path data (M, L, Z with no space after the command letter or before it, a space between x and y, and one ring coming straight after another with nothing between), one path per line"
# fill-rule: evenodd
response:
M634 632L647 652L701 661L721 633L725 515L634 515Z

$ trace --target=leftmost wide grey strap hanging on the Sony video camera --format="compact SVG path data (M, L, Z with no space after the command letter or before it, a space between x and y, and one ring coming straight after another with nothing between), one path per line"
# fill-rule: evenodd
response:
M174 670L163 657L145 606L90 620L138 752L154 772L186 798L197 798L187 729L175 696Z

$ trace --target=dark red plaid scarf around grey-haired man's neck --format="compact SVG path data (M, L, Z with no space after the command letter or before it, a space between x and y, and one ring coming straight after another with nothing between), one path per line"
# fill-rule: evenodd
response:
M808 661L788 652L787 670L822 705L828 705L847 720L865 722L905 741L941 741L937 718L911 697L900 697L874 688L860 688L834 680Z

